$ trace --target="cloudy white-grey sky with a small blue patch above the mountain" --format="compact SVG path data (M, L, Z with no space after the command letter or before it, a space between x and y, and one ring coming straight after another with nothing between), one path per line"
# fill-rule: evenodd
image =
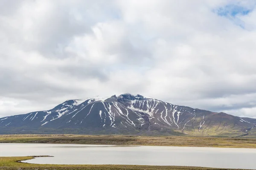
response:
M1 0L0 117L140 94L256 118L255 0Z

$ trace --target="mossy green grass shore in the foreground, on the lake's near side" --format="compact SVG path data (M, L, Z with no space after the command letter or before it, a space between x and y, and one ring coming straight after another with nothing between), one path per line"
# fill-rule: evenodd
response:
M33 156L0 157L0 170L228 170L207 167L145 166L145 165L55 165L21 163Z

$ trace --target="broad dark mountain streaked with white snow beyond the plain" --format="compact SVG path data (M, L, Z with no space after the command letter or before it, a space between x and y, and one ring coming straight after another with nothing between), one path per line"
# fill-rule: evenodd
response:
M49 111L0 118L0 134L256 136L255 130L256 119L131 94L67 100Z

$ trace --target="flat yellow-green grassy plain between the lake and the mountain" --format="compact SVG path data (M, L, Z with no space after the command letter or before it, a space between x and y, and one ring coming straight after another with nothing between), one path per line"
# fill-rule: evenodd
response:
M111 144L256 148L256 139L194 136L0 135L0 143Z

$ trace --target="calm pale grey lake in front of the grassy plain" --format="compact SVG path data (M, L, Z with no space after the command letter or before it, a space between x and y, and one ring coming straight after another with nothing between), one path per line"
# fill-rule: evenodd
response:
M49 155L33 164L134 164L256 169L256 149L111 146L86 144L0 144L0 156Z

